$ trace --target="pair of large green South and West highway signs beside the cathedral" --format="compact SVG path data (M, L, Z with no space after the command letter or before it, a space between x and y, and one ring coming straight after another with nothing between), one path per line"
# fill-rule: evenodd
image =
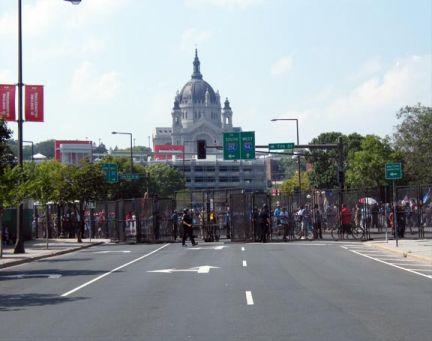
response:
M255 132L224 133L224 160L255 159Z

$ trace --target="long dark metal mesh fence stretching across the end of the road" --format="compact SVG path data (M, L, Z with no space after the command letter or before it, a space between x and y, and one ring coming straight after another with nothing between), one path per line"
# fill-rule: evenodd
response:
M402 237L431 238L432 185L396 187L396 216L403 228ZM77 204L36 206L34 235L50 238L110 238L113 241L169 242L182 235L181 216L191 210L194 235L204 241L231 240L251 242L286 240L287 229L297 231L295 238L335 239L340 227L340 208L345 204L351 212L353 229L363 239L385 238L394 233L393 190L391 187L367 190L314 190L302 193L246 192L241 190L204 190L178 192L174 199L139 198L101 201L88 205L84 215L84 231L80 230ZM269 212L268 226L261 218L263 207ZM288 223L279 212L286 211ZM174 214L174 212L176 212ZM304 213L307 222L303 221ZM393 219L393 222L392 222ZM318 225L319 220L319 225ZM290 225L288 228L284 224ZM320 226L320 227L319 227ZM301 229L303 232L301 233ZM319 233L317 230L319 229Z

